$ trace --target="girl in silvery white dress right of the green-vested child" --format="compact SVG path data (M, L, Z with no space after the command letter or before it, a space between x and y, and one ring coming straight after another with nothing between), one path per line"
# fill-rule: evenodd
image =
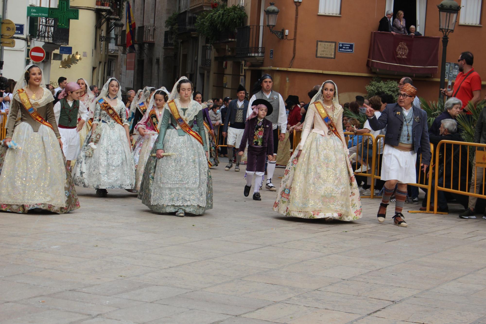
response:
M95 102L93 126L72 175L76 185L95 188L96 195L106 197L106 189L134 187L135 167L118 80L110 78Z

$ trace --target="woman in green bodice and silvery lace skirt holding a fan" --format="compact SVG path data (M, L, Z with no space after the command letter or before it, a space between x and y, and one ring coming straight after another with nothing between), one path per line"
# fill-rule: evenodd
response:
M174 85L159 125L139 199L154 212L202 215L212 208L208 144L202 107L192 100L186 77Z

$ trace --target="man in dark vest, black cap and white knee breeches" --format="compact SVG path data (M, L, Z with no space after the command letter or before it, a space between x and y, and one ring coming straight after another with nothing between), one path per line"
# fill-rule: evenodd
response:
M237 99L229 102L223 126L223 136L227 136L226 144L228 145L229 162L225 167L226 171L229 171L233 167L233 147L240 147L246 121L246 110L248 109L248 101L244 99L246 89L240 85L236 91ZM240 171L240 158L241 156L237 154L236 172Z

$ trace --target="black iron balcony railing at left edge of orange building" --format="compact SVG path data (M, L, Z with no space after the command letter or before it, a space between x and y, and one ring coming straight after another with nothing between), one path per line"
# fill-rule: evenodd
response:
M260 34L263 35L263 27L264 26L250 25L237 28L236 56L263 57L265 55L265 48L260 46Z

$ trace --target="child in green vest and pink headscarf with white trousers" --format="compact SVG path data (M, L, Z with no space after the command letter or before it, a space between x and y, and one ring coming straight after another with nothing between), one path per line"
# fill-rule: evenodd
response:
M54 105L57 128L61 135L62 150L68 167L76 161L81 150L78 132L88 119L88 109L79 100L81 87L76 82L69 82L59 93L59 101Z

